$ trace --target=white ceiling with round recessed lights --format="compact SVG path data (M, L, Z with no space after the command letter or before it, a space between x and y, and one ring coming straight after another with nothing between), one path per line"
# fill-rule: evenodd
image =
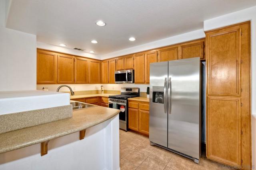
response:
M202 29L204 20L255 5L256 0L12 0L6 26L35 34L37 41L103 55ZM99 27L97 20L107 25Z

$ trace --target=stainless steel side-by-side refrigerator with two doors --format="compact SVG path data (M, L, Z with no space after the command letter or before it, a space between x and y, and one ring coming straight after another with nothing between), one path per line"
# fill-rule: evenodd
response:
M150 64L151 145L199 162L201 141L199 57Z

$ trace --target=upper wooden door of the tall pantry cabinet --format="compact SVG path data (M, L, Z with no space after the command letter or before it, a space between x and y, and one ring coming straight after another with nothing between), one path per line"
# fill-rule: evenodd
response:
M239 26L206 33L208 94L240 95L241 31Z

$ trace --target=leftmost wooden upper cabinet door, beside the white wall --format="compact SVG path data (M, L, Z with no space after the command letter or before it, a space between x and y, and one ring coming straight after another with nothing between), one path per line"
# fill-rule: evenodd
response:
M57 83L57 54L37 50L37 84Z

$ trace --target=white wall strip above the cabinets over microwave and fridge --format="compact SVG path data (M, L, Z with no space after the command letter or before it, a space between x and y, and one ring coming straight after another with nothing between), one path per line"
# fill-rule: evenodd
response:
M158 48L158 47L164 47L167 45L172 45L172 44L177 44L177 43L182 43L185 41L190 41L190 40L194 40L194 39L200 39L200 38L204 38L205 37L205 33L204 33L204 29L198 29L195 31L191 31L188 33L183 33L180 35L175 35L173 37L168 37L165 39L160 39L157 41L153 41L150 43L146 43L146 44L142 44L142 45L138 45L135 47L131 47L128 49L122 49L120 51L115 51L112 53L108 53L106 55L102 55L101 59L109 59L112 57L118 57L118 56L122 56L122 55L127 55L127 54L131 54L131 53L137 53L140 51L146 51L146 50L150 50L150 49L154 49L154 48Z

